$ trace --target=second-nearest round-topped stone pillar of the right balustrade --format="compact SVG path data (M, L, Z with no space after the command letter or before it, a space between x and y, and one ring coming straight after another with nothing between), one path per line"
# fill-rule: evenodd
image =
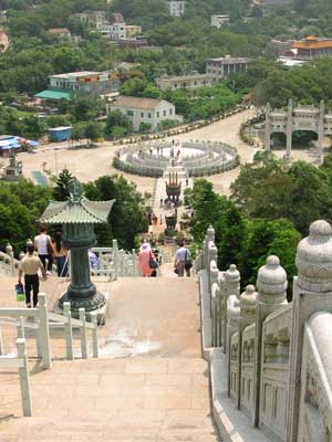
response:
M256 314L253 396L253 425L259 424L260 380L261 380L261 336L262 324L267 316L287 304L287 274L278 256L269 256L266 265L259 269L257 276L258 302Z

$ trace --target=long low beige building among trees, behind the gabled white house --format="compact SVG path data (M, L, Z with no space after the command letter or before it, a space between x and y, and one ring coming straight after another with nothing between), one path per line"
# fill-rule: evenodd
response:
M180 76L163 76L156 78L160 91L167 90L197 90L212 85L212 77L209 74L191 74Z

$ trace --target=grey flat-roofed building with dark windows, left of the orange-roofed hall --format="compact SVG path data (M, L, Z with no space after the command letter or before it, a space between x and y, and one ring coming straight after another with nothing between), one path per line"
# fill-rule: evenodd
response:
M208 59L206 61L206 72L212 76L214 82L218 82L231 74L247 71L250 61L247 57L232 57L230 55Z

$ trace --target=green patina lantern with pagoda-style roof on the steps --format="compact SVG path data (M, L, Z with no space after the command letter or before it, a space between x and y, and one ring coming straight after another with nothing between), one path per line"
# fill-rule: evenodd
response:
M94 224L107 222L114 202L71 194L68 201L51 201L42 214L41 223L62 225L63 245L71 252L71 283L59 301L60 307L70 302L72 312L92 312L105 305L105 296L91 282L89 249L96 242Z

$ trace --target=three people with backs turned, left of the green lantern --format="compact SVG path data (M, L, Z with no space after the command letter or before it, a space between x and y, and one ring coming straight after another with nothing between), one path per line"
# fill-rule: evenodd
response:
M58 276L68 275L68 250L63 246L62 232L56 231L54 239L42 228L34 241L28 241L27 254L20 262L19 286L22 286L24 274L24 293L27 307L35 307L39 293L39 271L44 278L52 274L53 263L56 263ZM31 305L31 291L33 294Z

